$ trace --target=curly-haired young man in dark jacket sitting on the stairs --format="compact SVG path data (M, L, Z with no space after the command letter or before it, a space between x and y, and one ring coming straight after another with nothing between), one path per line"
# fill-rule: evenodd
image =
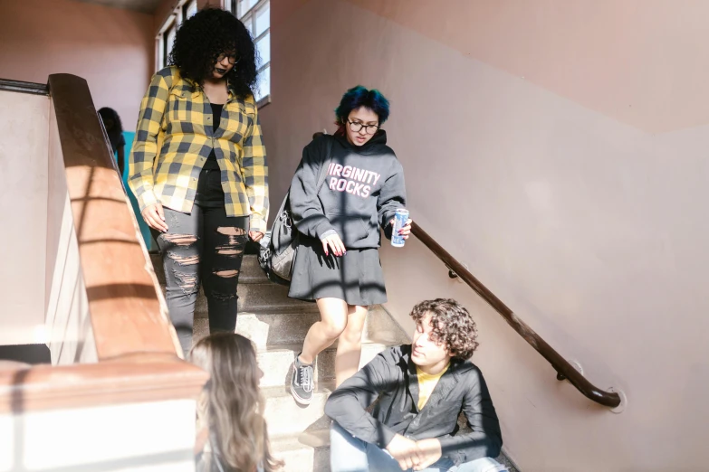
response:
M332 472L507 470L494 459L503 438L493 401L469 361L478 345L473 317L440 298L411 316L413 343L378 354L325 405ZM470 430L458 430L461 411Z

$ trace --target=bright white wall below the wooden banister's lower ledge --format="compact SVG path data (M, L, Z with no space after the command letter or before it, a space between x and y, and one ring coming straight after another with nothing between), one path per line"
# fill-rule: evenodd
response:
M0 472L194 472L196 402L0 414Z

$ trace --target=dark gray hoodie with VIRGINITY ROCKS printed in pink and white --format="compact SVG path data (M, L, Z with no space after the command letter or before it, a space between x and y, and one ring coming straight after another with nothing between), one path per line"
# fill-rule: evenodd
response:
M333 140L331 164L316 194L328 140ZM390 222L407 203L404 170L380 130L364 146L347 137L325 135L302 150L302 161L291 184L295 226L311 238L337 232L348 249L378 248L379 226L391 235Z

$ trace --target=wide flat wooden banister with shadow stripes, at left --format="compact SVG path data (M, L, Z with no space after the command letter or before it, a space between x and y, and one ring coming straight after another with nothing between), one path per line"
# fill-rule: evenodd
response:
M0 412L196 399L208 376L178 357L177 335L89 86L54 74L49 92L99 362L3 363Z

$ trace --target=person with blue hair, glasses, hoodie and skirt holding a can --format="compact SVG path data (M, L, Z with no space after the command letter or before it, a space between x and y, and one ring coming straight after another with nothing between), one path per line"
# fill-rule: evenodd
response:
M379 228L390 238L394 213L407 203L404 170L381 129L388 99L358 86L335 115L335 135L314 137L303 149L290 193L301 240L288 296L315 301L321 314L293 363L291 392L302 405L311 402L315 357L336 340L335 382L357 372L369 307L387 301ZM410 231L409 221L399 233Z

